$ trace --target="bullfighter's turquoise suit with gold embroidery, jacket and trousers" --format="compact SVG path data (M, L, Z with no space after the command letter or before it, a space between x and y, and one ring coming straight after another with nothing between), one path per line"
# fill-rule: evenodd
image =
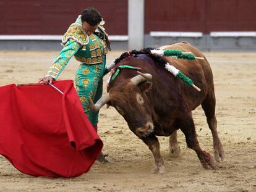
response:
M76 90L85 114L90 122L95 125L98 123L98 112L90 110L88 98L90 96L96 102L102 95L102 78L108 49L104 39L99 38L94 33L87 35L82 28L80 17L79 15L76 22L70 25L63 36L61 44L64 48L54 59L48 71L48 76L56 80L72 56L80 62L75 75ZM98 30L103 35L108 36L102 25L98 26Z

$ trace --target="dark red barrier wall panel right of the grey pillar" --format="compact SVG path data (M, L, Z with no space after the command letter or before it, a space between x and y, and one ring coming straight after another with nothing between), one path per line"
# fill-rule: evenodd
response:
M150 31L256 31L255 0L145 0Z

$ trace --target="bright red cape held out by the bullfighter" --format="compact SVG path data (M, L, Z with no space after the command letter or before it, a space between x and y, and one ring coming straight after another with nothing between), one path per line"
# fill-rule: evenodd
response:
M72 80L0 87L0 154L20 172L76 177L90 170L103 143L83 112Z

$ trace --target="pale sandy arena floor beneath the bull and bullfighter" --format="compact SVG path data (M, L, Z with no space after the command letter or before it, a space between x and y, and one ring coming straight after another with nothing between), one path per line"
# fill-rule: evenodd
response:
M0 86L37 82L57 54L1 51ZM111 52L107 65L120 54ZM103 107L99 135L111 164L96 162L88 173L77 178L44 178L24 175L0 156L0 191L256 191L256 53L205 55L215 79L218 132L226 153L218 169L203 169L178 131L181 155L172 157L169 138L158 137L166 173L150 173L153 156L147 146L115 109ZM74 79L78 66L72 59L59 79ZM211 131L202 108L193 114L200 145L213 154Z

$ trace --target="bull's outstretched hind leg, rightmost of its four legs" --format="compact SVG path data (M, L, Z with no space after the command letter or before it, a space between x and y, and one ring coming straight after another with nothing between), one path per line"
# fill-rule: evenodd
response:
M205 116L207 117L207 123L211 130L211 134L213 135L213 149L214 149L214 157L217 162L220 162L224 159L224 151L223 146L221 144L220 138L217 132L217 120L215 117L215 94L208 94L207 97L202 102L202 108L205 112Z

